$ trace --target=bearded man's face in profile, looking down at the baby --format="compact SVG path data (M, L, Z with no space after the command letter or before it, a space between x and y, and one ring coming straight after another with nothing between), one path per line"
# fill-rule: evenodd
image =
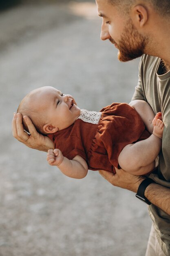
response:
M101 39L110 40L119 49L119 61L130 61L144 54L147 38L139 34L130 17L106 0L96 0L96 3L103 19Z

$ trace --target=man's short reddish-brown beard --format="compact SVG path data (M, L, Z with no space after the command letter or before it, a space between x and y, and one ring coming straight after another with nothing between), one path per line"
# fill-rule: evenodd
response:
M132 20L128 20L117 45L119 49L118 60L125 62L140 57L145 52L147 42L148 38L139 34L132 24Z

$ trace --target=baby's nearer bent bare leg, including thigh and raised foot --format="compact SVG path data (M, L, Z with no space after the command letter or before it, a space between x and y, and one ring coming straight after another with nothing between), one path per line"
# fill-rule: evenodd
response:
M148 139L129 144L118 157L119 165L125 171L136 175L149 173L155 167L155 158L162 144L163 122L157 114L153 120L154 132Z

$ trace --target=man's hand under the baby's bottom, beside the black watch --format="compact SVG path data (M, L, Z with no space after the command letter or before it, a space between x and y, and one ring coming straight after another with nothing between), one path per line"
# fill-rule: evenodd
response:
M113 186L119 186L122 189L128 189L137 193L141 182L145 179L143 176L133 175L122 169L115 168L116 173L109 171L99 171L99 173Z

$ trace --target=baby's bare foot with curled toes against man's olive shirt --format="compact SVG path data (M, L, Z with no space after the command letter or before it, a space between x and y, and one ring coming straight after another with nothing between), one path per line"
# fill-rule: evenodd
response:
M155 118L152 121L153 124L153 135L162 139L163 136L163 121L162 121L162 114L158 112Z

